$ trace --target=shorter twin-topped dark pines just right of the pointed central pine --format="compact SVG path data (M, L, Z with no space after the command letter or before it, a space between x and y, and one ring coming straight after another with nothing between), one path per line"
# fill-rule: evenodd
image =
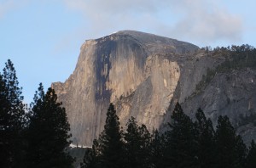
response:
M137 126L134 117L127 123L125 132L125 167L150 167L151 135L145 125Z

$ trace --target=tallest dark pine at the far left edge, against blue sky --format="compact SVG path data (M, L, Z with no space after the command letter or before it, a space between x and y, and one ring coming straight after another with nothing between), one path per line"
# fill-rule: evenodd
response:
M0 74L0 165L20 167L23 159L22 138L25 105L14 64L8 60Z

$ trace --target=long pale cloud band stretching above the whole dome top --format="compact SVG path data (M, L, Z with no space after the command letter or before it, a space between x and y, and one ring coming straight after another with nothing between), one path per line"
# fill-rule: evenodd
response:
M86 20L91 37L132 29L193 42L236 42L242 22L221 1L210 0L64 0Z

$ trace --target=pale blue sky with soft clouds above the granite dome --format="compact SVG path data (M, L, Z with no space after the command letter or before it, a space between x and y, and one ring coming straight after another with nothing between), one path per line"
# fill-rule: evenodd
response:
M134 30L199 47L256 47L255 0L0 0L0 73L8 59L30 104L66 81L87 39Z

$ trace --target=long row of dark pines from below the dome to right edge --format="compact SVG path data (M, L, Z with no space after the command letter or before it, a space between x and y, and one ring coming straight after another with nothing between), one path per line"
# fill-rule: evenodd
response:
M253 168L256 144L249 148L236 135L227 116L212 120L198 109L195 121L185 115L180 104L172 112L166 132L148 132L134 117L120 127L113 104L109 105L106 124L92 148L84 154L82 168Z

